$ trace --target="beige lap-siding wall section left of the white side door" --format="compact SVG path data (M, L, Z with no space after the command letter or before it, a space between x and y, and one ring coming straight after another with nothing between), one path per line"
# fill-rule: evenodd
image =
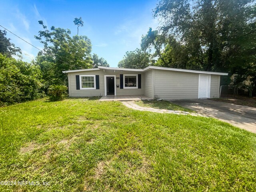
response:
M161 99L197 99L199 74L177 71L155 71L155 95Z

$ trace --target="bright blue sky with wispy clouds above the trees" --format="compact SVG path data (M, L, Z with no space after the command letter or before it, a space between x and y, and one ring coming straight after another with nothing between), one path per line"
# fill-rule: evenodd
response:
M140 48L143 34L158 26L152 10L157 0L1 0L0 25L42 50L43 46L34 38L42 20L51 26L68 28L72 36L77 33L74 18L82 17L84 26L79 35L86 35L92 41L92 54L96 53L117 67L127 51ZM4 30L0 27L1 30ZM7 37L20 47L23 60L30 62L38 50L20 40L10 32Z

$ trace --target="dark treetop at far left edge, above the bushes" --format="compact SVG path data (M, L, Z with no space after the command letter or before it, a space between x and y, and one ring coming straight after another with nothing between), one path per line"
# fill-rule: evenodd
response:
M8 57L19 56L18 54L21 54L20 48L11 43L11 39L6 38L6 34L6 30L0 30L0 53Z

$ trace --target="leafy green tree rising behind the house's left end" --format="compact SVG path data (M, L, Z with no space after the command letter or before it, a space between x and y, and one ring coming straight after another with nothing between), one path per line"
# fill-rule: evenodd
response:
M36 63L42 68L51 68L55 84L67 84L67 76L62 70L86 69L92 67L91 50L92 44L87 36L70 37L71 31L47 26L39 21L44 30L38 32L36 39L44 45L43 51L38 52ZM53 66L50 66L54 63ZM46 66L43 66L43 65ZM43 70L44 71L44 70ZM47 73L47 71L46 71ZM47 75L47 74L46 74ZM45 76L43 74L43 76Z

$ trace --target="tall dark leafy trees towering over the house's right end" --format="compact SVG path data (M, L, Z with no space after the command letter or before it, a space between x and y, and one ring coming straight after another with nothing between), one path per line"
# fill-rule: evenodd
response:
M186 48L190 64L240 73L256 53L255 10L253 0L161 0L154 16L161 34Z

